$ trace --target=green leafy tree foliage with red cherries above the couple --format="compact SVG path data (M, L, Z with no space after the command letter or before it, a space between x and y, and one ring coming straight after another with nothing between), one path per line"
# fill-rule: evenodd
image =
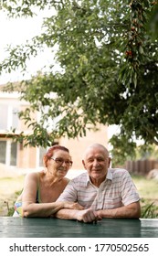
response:
M28 144L46 146L60 136L84 136L97 123L120 126L111 138L119 161L134 156L136 139L145 147L158 144L157 1L1 2L10 16L34 16L35 7L50 10L41 35L8 48L10 57L1 70L25 70L26 59L39 49L52 48L53 56L58 48L47 72L16 87L31 111L41 112L38 123L30 120L30 111L20 113L34 131L26 137ZM13 84L7 86L12 90ZM46 124L50 118L54 122Z

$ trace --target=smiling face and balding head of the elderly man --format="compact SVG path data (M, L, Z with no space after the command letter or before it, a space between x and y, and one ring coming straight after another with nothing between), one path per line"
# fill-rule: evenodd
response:
M92 147L87 151L82 163L88 171L92 182L102 182L107 175L111 158L102 147Z

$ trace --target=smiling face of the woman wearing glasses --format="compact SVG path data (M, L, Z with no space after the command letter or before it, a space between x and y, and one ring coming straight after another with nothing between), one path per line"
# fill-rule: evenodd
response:
M47 161L47 170L54 176L64 177L71 167L72 161L68 152L56 150L51 158Z

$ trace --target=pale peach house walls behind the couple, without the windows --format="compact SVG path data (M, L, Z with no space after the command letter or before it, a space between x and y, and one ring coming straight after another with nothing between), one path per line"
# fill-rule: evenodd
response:
M4 93L0 91L0 104L16 106L19 111L24 111L26 107L29 107L28 102L19 101L19 95L15 93ZM13 115L13 114L12 114ZM32 118L37 119L36 114L32 114ZM8 115L8 118L10 116ZM1 121L0 121L1 122ZM7 127L6 127L7 128ZM58 144L65 145L68 147L70 155L72 156L73 166L72 169L83 169L81 160L84 150L93 143L108 145L108 128L103 125L98 125L98 131L87 131L85 137L79 137L76 139L68 139L67 137L60 138ZM7 128L8 129L8 128ZM7 130L6 129L6 130ZM24 121L20 120L16 127L17 133L24 131L30 133L31 127L28 129ZM0 140L12 140L5 136L6 131L0 131ZM46 149L47 151L47 149ZM18 168L38 168L39 167L39 149L31 146L24 146L23 144L17 144L17 155L16 155L16 167Z

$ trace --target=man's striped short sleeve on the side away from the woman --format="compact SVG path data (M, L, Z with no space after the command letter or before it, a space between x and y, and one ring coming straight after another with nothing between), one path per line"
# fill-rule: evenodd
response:
M130 176L129 172L124 172L121 178L121 197L122 197L122 204L124 206L130 205L134 202L140 200L140 196L138 194L137 188L135 187L132 177Z

